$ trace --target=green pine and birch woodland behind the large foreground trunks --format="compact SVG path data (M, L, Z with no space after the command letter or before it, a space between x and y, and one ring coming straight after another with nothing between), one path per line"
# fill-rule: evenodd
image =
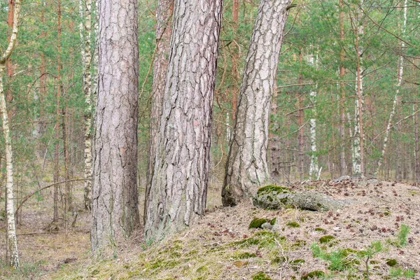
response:
M18 45L4 80L18 203L29 190L53 181L56 145L59 145L59 176L64 179L64 135L69 151L67 176L83 178L87 107L82 50L83 36L87 35L80 32L84 30L80 25L85 20L81 18L79 2L62 0L60 4L61 30L57 28L57 1L22 3ZM224 2L214 96L210 186L216 190L220 190L223 181L241 71L258 8L258 1L239 1L236 19L232 14L233 4L232 0ZM293 182L310 176L334 178L356 174L355 153L360 139L356 106L361 100L364 173L386 180L419 182L420 3L298 0L295 4L286 24L271 109L272 179ZM1 1L0 5L0 41L7 42L8 2ZM139 0L138 6L138 168L139 188L143 189L156 42L155 1ZM93 27L94 23L92 45ZM363 96L358 96L356 90L357 62L363 76L363 92L360 92ZM340 66L344 71L340 72ZM91 71L95 75L94 67ZM381 159L384 143L386 149ZM0 151L4 151L2 138ZM4 181L5 162L1 153L1 181ZM315 171L311 169L316 165ZM4 190L0 190L3 200ZM4 213L3 207L0 213Z

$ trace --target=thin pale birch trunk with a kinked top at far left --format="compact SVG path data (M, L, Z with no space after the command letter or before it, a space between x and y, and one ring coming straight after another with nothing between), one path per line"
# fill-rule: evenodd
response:
M13 27L8 46L0 56L0 113L6 156L6 262L10 267L19 268L18 242L16 238L15 206L13 197L13 149L10 137L9 116L6 106L6 94L3 90L3 74L6 63L18 37L20 0L15 0L13 9ZM9 15L10 17L10 15Z

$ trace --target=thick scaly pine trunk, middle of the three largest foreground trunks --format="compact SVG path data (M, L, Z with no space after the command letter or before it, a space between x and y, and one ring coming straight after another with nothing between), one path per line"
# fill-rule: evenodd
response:
M221 8L221 0L174 3L155 168L146 197L146 240L160 240L204 215Z

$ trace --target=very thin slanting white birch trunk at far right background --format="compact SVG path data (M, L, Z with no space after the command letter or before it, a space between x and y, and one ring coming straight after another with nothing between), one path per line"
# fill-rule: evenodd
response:
M408 5L407 2L408 2L408 0L405 0L405 3L404 3L404 23L402 25L402 36L404 36L405 27L407 26L407 5ZM404 43L404 41L401 41L401 50L403 50L404 48L405 48L405 43ZM388 124L386 125L386 131L385 131L385 135L384 135L384 145L382 146L381 158L379 158L377 169L374 172L375 176L377 176L377 174L379 173L379 169L381 169L382 162L384 161L384 155L386 153L386 146L388 144L389 132L391 131L392 119L393 119L393 116L395 115L395 111L397 109L398 95L400 94L403 71L404 71L404 57L402 55L400 55L400 59L398 60L397 90L395 92L395 96L394 96L394 99L393 99L392 110L391 110L391 113L389 114Z

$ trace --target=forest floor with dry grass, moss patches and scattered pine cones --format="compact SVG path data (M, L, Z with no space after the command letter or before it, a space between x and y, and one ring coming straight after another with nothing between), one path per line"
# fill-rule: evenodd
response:
M251 202L223 208L220 191L211 188L200 223L158 245L132 240L107 260L90 256L87 211L78 210L67 235L60 225L58 233L48 232L55 230L50 201L33 197L18 226L22 269L1 264L0 279L312 279L311 272L323 274L319 279L420 279L420 188L365 179L289 187L351 202L327 212L265 210ZM80 209L81 190L75 192ZM253 218L276 218L274 230L249 229ZM0 218L1 235L4 228Z

